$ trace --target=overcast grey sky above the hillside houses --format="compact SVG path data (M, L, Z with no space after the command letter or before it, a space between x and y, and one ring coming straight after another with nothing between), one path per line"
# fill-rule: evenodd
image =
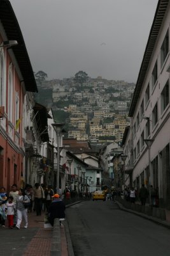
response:
M136 83L158 0L11 0L34 72ZM14 38L15 39L15 38Z

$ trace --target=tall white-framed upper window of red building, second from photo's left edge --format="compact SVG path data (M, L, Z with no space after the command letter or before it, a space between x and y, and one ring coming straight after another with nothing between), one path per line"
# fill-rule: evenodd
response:
M8 71L8 120L13 122L13 72L12 64Z

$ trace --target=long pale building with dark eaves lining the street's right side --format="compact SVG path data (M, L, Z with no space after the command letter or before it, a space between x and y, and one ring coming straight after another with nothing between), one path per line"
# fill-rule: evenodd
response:
M125 168L132 185L159 189L159 205L170 207L169 1L160 0L141 63L129 116L131 129L124 141ZM150 148L145 140L151 140ZM127 184L128 185L128 184Z

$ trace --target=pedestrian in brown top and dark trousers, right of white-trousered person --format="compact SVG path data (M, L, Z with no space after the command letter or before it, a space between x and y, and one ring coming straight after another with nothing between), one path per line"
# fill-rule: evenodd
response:
M44 194L43 188L39 185L39 183L36 183L34 186L35 186L33 190L34 208L36 210L36 216L40 216L45 194Z

